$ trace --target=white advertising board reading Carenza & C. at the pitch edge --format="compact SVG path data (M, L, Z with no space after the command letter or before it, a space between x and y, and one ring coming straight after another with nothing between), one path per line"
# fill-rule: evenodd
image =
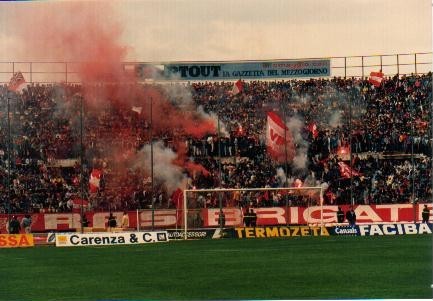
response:
M58 233L56 247L119 246L167 242L167 231L119 233Z

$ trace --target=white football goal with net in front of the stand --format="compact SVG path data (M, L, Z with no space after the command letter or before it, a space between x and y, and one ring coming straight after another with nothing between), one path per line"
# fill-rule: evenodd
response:
M267 225L323 226L323 188L184 190L182 229Z

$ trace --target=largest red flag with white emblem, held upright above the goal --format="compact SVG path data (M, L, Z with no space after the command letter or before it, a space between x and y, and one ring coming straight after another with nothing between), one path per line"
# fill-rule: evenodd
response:
M295 154L290 131L284 125L280 116L274 112L268 112L267 115L266 147L269 155L278 162L284 162L287 151L287 160L291 161Z

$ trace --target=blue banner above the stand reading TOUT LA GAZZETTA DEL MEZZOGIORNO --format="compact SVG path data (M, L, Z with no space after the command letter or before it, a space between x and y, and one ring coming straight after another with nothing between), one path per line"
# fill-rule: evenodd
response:
M141 79L157 80L237 80L266 78L326 77L331 60L251 61L242 63L181 63L135 66Z

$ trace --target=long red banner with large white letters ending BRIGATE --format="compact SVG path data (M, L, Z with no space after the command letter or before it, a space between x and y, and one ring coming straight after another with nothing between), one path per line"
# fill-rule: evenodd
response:
M341 206L346 212L349 209L348 205ZM355 213L358 224L373 224L373 223L404 223L404 222L420 222L422 220L422 210L424 204L386 204L386 205L358 205L355 206ZM432 205L428 204L430 212ZM320 218L323 210L323 223L337 223L337 206L314 206L314 207L269 207L269 208L254 208L257 214L258 226L272 225L305 225L317 224L320 225ZM223 209L226 226L240 227L243 226L244 210L241 208L224 208ZM89 227L106 228L109 217L109 212L86 212ZM113 212L120 225L123 212ZM152 227L152 211L129 211L129 228L149 229ZM19 214L18 220L22 220L24 215ZM202 208L197 210L189 210L189 226L188 228L216 228L218 227L218 208ZM138 220L137 220L138 217ZM159 229L183 228L183 211L175 209L155 210L153 226ZM7 233L8 217L5 214L0 214L0 233ZM430 215L430 222L433 217ZM48 231L71 231L80 229L80 214L79 213L35 213L32 214L32 231L33 232L48 232Z

